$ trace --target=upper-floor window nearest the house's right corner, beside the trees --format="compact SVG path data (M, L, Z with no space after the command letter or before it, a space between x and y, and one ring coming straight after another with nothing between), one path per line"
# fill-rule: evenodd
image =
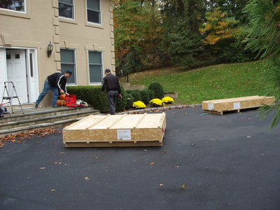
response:
M87 0L87 22L101 24L100 0Z

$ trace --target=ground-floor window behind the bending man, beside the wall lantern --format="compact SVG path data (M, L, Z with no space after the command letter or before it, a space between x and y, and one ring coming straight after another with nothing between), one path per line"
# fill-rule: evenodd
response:
M72 76L67 79L67 84L76 85L76 59L75 50L60 49L62 73L72 71Z

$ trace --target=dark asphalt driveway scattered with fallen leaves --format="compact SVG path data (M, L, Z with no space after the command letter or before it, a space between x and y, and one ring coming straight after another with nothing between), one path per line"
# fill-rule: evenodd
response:
M62 134L6 144L0 209L280 209L271 117L165 112L162 147L64 148Z

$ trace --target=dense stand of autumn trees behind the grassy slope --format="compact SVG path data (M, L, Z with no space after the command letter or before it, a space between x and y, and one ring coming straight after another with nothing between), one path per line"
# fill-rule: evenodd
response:
M252 60L250 50L241 42L245 36L237 36L240 27L246 25L242 8L247 2L114 0L116 71L171 65L190 69ZM202 27L203 23L211 29ZM206 37L215 44L203 43Z

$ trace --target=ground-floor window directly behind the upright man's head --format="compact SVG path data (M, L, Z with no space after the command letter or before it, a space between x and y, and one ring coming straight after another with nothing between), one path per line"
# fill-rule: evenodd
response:
M90 64L90 84L102 82L102 52L89 51L88 61Z

